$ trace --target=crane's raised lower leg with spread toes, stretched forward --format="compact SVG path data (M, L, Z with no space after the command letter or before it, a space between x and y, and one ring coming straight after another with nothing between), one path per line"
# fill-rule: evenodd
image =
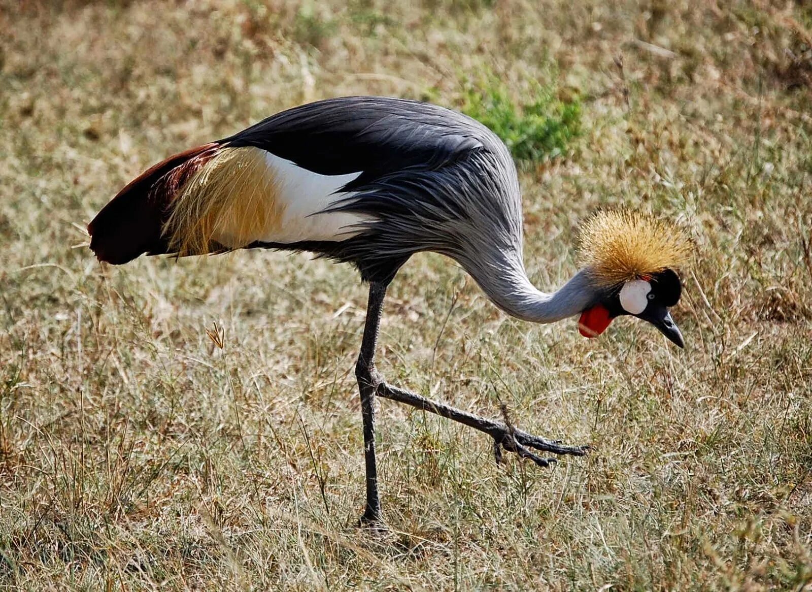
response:
M379 382L377 389L378 396L385 399L391 399L400 403L412 405L423 411L436 413L439 416L447 417L453 421L473 427L476 430L485 432L494 439L494 452L497 462L502 460L502 451L505 449L508 452L516 452L522 458L529 458L537 465L546 467L551 462L555 462L554 458L542 458L530 452L529 448L535 448L543 452L552 452L553 454L571 454L575 456L584 456L589 449L586 446L564 446L558 441L540 438L533 434L528 434L523 430L518 430L508 423L501 423L479 417L473 413L462 411L451 407L444 403L438 403L424 396L417 395L412 391L406 391L402 388L393 387L386 382Z

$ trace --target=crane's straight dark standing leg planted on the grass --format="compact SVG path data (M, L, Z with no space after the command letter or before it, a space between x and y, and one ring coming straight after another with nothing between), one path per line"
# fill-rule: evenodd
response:
M356 363L358 390L361 392L361 417L364 420L364 460L366 465L366 508L361 522L381 524L381 499L378 497L378 466L375 462L375 391L383 378L375 368L375 346L381 323L383 297L387 283L369 284L369 303L366 308L364 338Z

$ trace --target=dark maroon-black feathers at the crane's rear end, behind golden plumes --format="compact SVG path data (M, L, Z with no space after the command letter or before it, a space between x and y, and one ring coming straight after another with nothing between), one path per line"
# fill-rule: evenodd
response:
M142 253L167 253L162 227L172 198L220 146L213 142L166 158L119 191L88 225L98 260L120 265Z

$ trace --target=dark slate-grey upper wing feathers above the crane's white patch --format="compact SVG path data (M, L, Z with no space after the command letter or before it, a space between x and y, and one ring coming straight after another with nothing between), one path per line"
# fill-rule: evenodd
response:
M456 111L389 97L339 97L272 115L225 140L320 175L361 173L352 191L393 172L437 170L482 149L489 132Z

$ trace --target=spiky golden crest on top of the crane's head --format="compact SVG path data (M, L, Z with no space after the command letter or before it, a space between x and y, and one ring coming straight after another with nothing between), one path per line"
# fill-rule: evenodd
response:
M693 251L685 232L650 214L598 212L579 236L579 262L603 286L642 279L688 263Z

